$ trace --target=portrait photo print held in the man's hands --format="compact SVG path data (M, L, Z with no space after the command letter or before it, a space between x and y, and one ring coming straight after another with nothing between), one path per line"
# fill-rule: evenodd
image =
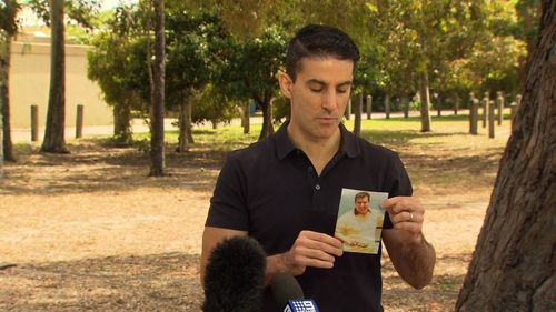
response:
M385 211L379 203L387 193L344 189L335 236L345 252L378 253Z

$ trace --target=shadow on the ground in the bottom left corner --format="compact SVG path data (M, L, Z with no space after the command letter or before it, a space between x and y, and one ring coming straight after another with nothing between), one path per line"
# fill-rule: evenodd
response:
M1 311L200 311L199 254L18 264L0 271Z

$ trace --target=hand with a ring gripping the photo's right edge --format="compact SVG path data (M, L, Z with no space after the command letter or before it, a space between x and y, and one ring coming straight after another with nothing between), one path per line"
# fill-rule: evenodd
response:
M394 229L401 230L409 243L420 244L425 208L413 197L395 197L380 204L390 215Z

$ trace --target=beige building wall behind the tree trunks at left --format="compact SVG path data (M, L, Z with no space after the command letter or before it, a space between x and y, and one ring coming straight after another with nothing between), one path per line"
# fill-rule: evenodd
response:
M77 105L82 104L85 125L112 123L110 107L100 88L87 78L88 46L66 44L66 125L75 127ZM10 108L12 129L31 127L31 105L39 107L39 128L44 128L50 88L50 38L22 33L12 41ZM66 133L68 135L70 133Z

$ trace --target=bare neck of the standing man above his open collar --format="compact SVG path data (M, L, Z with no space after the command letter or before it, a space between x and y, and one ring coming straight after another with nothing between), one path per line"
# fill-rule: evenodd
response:
M339 127L330 138L326 139L306 138L298 131L291 131L289 127L288 135L294 145L307 154L318 175L340 148L341 132Z

